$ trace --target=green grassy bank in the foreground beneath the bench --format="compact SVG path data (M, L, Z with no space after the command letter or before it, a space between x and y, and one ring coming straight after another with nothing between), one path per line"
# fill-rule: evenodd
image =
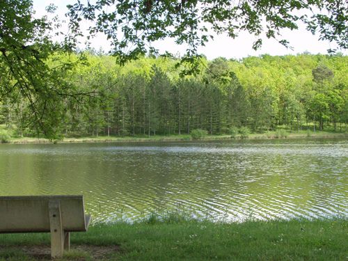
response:
M347 219L115 223L72 233L64 260L347 260L347 233ZM45 259L47 251L49 234L0 235L0 260Z

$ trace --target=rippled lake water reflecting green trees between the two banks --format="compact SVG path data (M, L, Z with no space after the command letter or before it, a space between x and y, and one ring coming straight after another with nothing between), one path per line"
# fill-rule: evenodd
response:
M347 216L348 141L0 144L0 196L83 194L94 221Z

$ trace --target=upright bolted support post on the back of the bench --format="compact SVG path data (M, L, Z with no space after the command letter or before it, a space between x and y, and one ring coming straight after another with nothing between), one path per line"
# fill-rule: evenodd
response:
M51 257L61 258L64 251L64 231L61 219L61 204L49 201L49 226L51 230Z

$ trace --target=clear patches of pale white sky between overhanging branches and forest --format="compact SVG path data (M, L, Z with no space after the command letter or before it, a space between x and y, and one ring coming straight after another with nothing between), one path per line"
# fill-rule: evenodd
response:
M66 6L75 2L76 0L33 0L33 9L35 10L35 15L42 16L46 14L45 7L48 6L49 3L54 3L54 5L58 7L56 11L58 17L60 19L65 19L64 14L68 10ZM260 56L261 54L269 54L272 56L301 54L303 52L309 52L311 54L327 54L328 49L335 49L337 47L333 42L320 41L318 35L312 35L312 33L306 31L306 27L301 24L298 30L283 30L281 31L281 34L282 39L287 39L293 49L287 49L276 42L276 40L264 37L262 38L263 44L261 49L255 51L252 49L252 46L256 38L249 33L242 32L239 33L239 37L235 39L228 38L227 35L214 35L214 40L210 40L205 47L200 47L198 53L204 54L209 60L217 57L239 59L247 56ZM184 46L175 45L173 40L157 41L153 46L158 48L160 53L168 51L172 54L182 55L185 51ZM86 46L81 44L79 47L84 49ZM97 50L104 49L104 51L108 51L109 42L107 42L104 35L97 35L97 38L94 38L91 41L90 47ZM345 55L348 54L347 50L339 51Z

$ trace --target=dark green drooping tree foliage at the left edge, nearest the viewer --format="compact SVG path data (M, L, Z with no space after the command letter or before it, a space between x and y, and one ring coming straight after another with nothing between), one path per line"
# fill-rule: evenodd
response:
M54 10L52 6L47 9ZM46 17L33 18L29 0L0 1L0 101L24 99L31 111L29 127L57 139L65 114L67 97L79 99L79 93L65 81L74 65L71 61L52 61L52 55L63 52L51 40L54 24Z

